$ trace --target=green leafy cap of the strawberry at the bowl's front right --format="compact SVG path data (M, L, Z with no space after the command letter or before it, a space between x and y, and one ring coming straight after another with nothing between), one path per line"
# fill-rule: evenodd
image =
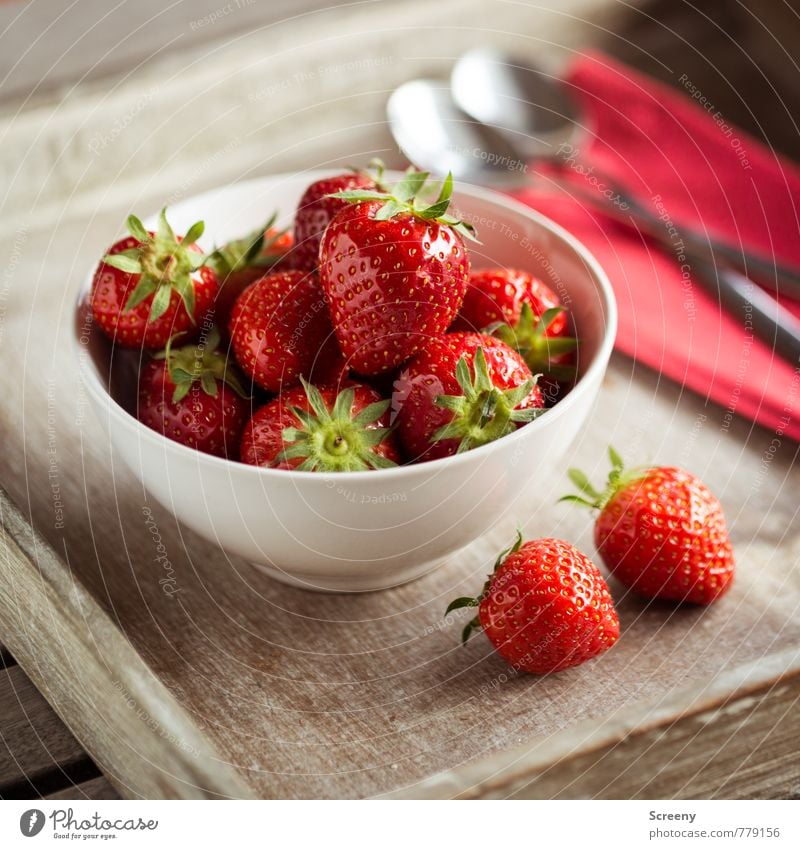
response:
M450 410L453 417L433 434L432 440L458 439L459 454L513 433L517 424L532 421L545 412L516 409L530 394L536 377L513 389L498 389L489 375L483 348L475 351L473 371L474 376L470 375L467 359L462 356L456 365L456 380L463 394L436 398L436 404Z

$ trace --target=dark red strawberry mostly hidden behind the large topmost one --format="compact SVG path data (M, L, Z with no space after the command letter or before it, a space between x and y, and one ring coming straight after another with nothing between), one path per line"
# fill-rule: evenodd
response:
M378 184L371 175L352 171L317 180L305 190L297 205L294 219L297 242L293 252L295 268L301 271L316 269L319 264L319 243L322 234L336 213L347 206L347 201L331 195L353 189L377 190Z

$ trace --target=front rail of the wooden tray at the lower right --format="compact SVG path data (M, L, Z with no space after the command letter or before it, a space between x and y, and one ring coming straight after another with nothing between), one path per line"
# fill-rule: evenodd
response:
M798 705L800 652L791 650L394 796L792 798L800 795Z

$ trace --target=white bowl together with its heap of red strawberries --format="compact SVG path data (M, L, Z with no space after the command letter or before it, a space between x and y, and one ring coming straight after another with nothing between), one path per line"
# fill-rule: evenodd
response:
M127 225L76 320L115 452L186 526L307 589L395 586L523 521L611 354L586 249L450 177L276 175Z

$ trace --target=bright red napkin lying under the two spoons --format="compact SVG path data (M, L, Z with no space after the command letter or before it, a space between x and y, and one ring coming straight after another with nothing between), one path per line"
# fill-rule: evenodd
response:
M687 94L601 54L566 75L585 143L559 174L602 191L601 175L678 225L800 266L800 171L725 122L691 80ZM694 98L694 99L693 99ZM597 174L585 173L594 166ZM546 171L537 171L545 177ZM800 368L719 306L670 253L563 189L520 197L574 233L611 278L617 348L717 402L721 426L746 416L800 440ZM782 299L800 315L800 304Z

